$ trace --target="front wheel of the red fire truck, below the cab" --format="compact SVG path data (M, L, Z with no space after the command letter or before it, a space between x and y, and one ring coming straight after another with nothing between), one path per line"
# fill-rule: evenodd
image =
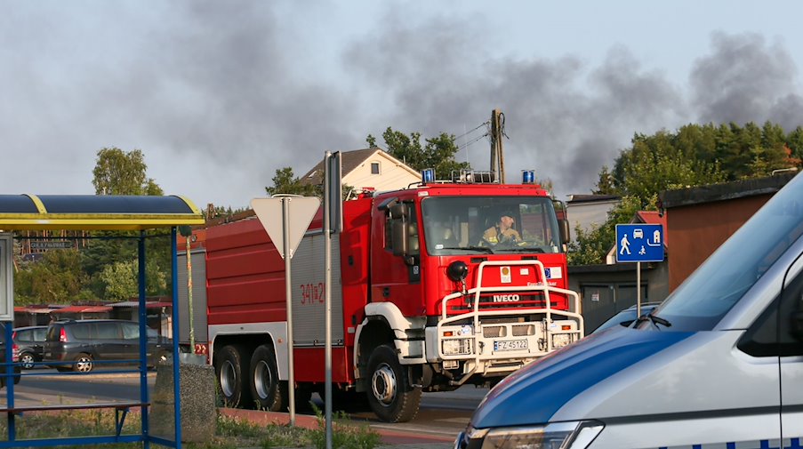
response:
M421 389L410 386L407 369L398 363L396 350L382 345L368 359L371 376L368 404L382 421L406 422L418 413Z

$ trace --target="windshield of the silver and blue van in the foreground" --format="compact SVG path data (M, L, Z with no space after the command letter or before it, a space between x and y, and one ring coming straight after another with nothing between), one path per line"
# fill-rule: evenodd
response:
M803 176L796 176L711 254L655 315L671 322L667 330L710 331L801 234Z

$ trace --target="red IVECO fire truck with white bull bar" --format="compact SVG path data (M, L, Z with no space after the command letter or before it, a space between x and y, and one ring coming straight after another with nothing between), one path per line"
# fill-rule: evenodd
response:
M322 212L293 255L293 317L285 263L253 212L201 230L196 352L207 352L230 406L287 406L291 318L294 397L323 391L326 288L333 392L365 395L383 421L411 420L422 391L494 384L582 338L579 297L567 289L568 225L543 188L430 182L342 205L332 285ZM518 238L487 237L502 214Z

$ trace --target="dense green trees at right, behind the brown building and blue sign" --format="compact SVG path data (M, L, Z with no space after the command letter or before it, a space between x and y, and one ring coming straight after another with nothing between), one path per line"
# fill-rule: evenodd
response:
M786 135L769 122L761 127L687 124L674 133L637 133L631 141L632 147L616 157L613 170L602 167L594 190L622 196L622 204L604 224L588 231L575 229L572 264L601 263L615 243L615 224L629 222L639 209L654 207L662 190L768 176L777 169L800 167L803 155L803 129Z

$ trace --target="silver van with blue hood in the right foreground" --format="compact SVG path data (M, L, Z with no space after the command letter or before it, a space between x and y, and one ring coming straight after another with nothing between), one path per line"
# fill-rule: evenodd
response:
M526 365L455 448L803 448L803 176L662 305Z

